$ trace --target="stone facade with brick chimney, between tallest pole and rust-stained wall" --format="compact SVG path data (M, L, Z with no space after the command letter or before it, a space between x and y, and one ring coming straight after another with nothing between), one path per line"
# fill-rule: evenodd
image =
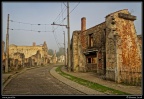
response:
M89 34L93 33L93 44L94 46L92 48L97 48L97 50L102 50L102 48L105 48L105 22L96 25L92 28L89 28L86 30L85 26L85 18L82 18L84 22L82 22L82 29L81 31L74 31L72 35L71 40L71 55L72 55L72 70L73 71L89 71L87 70L87 62L86 62L86 56L84 55L84 52L86 52L89 48L88 40L89 40ZM101 54L103 55L103 52L101 51ZM99 71L103 72L104 64L103 64L103 57L99 58L99 64L101 64L101 67L99 67ZM94 65L92 65L93 68ZM95 65L96 66L96 65ZM100 66L100 65L99 65ZM96 68L96 67L95 67ZM91 69L90 69L91 70ZM99 73L101 73L99 72Z

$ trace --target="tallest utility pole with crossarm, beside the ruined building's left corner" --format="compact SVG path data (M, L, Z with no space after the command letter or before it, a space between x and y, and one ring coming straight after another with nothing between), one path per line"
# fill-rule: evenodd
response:
M68 72L71 68L71 59L70 59L70 22L69 22L69 2L67 2L67 30L68 30Z

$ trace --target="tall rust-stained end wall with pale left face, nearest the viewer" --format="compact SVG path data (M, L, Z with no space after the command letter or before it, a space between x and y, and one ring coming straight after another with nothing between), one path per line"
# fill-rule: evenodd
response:
M118 83L138 85L142 78L142 60L133 20L118 13L106 17L106 77Z

